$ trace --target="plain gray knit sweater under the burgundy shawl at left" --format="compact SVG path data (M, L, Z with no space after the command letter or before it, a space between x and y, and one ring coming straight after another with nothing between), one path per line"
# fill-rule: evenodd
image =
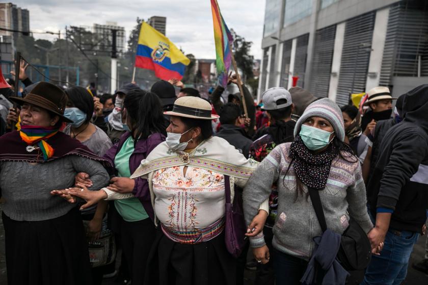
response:
M109 182L109 175L99 162L77 155L37 164L0 162L3 211L17 221L41 221L65 215L76 204L52 196L50 191L72 187L78 172L89 174L94 184L90 189L100 189Z

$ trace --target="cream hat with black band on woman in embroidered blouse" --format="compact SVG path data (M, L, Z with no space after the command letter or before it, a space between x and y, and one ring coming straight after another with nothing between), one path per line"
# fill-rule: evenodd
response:
M220 118L218 115L212 115L211 110L211 104L208 101L199 97L185 96L175 100L172 111L166 111L164 114L201 120Z

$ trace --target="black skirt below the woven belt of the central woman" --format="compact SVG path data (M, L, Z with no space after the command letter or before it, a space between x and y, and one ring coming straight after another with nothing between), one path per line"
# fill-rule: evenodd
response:
M159 226L145 277L146 285L234 285L236 260L226 249L224 232L199 244L181 244Z

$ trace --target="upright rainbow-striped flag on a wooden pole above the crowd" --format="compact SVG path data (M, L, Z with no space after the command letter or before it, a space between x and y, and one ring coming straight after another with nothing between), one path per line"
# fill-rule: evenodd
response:
M233 37L223 19L217 0L211 0L211 11L214 24L214 40L216 42L217 74L219 84L226 87L229 68L232 63L230 46L233 43Z

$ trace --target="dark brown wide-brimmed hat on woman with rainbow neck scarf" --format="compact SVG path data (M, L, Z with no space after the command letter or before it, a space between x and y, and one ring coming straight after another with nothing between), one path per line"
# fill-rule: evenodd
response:
M36 105L58 115L63 122L73 123L73 121L64 117L67 95L61 88L52 83L40 82L25 98L9 97L9 99L20 105L24 103Z

